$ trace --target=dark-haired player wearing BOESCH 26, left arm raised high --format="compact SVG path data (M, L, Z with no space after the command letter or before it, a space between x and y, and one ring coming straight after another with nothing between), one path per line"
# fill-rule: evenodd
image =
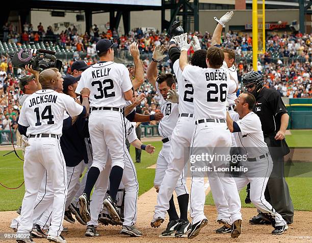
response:
M183 71L182 75L193 84L194 88L196 127L193 135L191 156L202 153L201 147L204 147L204 151L207 151L209 154L218 153L220 149L216 147L230 147L230 133L227 131L225 124L225 101L228 93L236 92L237 84L235 81L230 80L229 73L226 70L220 69L224 59L222 50L217 47L208 49L206 55L208 68L202 69L187 64L187 50L191 46L191 44L187 43L187 34L178 37L178 44L181 48L179 66ZM216 163L224 162L212 161L212 163L216 165ZM207 219L203 214L205 202L203 178L202 176L196 176L198 174L192 173L191 217L193 224L188 235L189 238L197 236L200 229L207 224ZM238 192L233 192L236 184L231 177L226 178L219 175L218 177L221 180L225 197L229 204L229 214L233 224L231 237L238 237L241 234L242 216L239 194Z

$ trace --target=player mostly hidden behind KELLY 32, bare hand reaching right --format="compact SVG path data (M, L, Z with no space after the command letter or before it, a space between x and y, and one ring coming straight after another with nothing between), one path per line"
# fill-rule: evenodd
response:
M150 144L148 145L142 144L142 142L137 138L136 130L133 124L127 119L125 119L125 123L126 123L126 138L129 140L129 142L133 146L140 149L144 149L147 151L147 153L152 154L155 148ZM125 189L124 217L122 219L123 227L120 233L130 236L141 236L142 233L134 226L137 221L137 198L139 184L135 165L127 149L125 150L125 161L126 163L121 180L122 185ZM110 158L107 162L107 166L105 167L105 169L101 171L94 187L90 203L91 221L87 223L88 227L85 233L86 236L99 235L96 231L96 227L98 226L98 215L102 209L103 204L102 202L109 186L108 178L111 167L108 165L111 165Z

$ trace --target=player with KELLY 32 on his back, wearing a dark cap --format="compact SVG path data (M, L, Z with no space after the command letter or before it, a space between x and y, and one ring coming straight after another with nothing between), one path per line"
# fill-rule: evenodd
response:
M93 149L93 164L88 172L84 194L79 197L80 212L86 222L90 221L90 195L99 176L105 168L108 150L112 159L110 174L110 196L105 204L116 221L120 215L116 195L125 166L125 126L123 109L125 101L133 96L129 72L123 64L114 63L114 47L117 44L108 39L96 43L100 62L82 73L76 93L86 86L90 89L91 114L89 133Z

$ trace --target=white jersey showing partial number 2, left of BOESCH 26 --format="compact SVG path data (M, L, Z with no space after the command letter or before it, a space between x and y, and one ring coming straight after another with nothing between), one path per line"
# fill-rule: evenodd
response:
M194 114L193 85L189 80L182 77L182 70L180 69L179 66L179 59L177 59L173 64L173 72L176 76L178 83L179 112Z

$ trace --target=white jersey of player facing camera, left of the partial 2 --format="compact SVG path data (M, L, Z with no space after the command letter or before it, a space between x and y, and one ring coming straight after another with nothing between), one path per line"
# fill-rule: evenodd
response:
M158 82L156 82L156 91L160 97L161 112L164 114L164 117L159 122L158 131L163 138L166 138L171 136L172 131L177 123L179 115L178 104L171 103L164 99L159 91Z

